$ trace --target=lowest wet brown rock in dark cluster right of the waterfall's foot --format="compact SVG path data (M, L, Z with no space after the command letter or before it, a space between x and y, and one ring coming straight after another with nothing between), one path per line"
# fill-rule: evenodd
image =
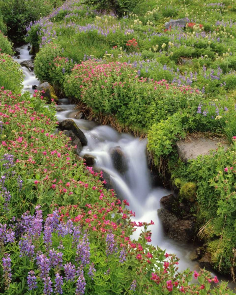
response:
M176 241L188 242L194 238L195 222L192 220L179 220L172 224L168 236Z

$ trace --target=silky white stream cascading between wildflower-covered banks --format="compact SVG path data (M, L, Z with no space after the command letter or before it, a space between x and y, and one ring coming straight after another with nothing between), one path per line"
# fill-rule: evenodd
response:
M29 44L16 48L20 52L19 58L14 59L20 63L23 60L30 60ZM22 67L24 72L24 88L23 91L33 93L32 85L39 85L39 81L35 78L33 71L26 67ZM190 268L191 271L199 270L199 263L190 260L190 254L197 245L185 244L169 239L163 233L162 225L158 219L157 210L160 208L160 199L163 196L171 194L171 191L164 187L152 187L150 181L150 173L145 155L147 140L139 140L130 134L118 133L110 126L98 125L94 121L85 119L74 119L75 114L79 110L73 110L76 105L70 104L68 99L60 99L60 107L63 109L57 112L59 122L64 119L73 119L77 126L84 132L88 145L83 147L81 157L85 154L91 154L96 159L95 165L110 175L110 181L114 185L114 189L119 196L127 199L130 203L129 209L135 212L136 217L132 217L133 221L153 220L155 225L151 225L149 229L152 232L152 244L166 250L167 253L176 253L180 258L179 270L183 271ZM114 167L111 157L111 150L120 147L122 154L126 160L126 170L124 173L119 173ZM137 238L140 234L140 228L133 233ZM215 275L215 274L212 274ZM230 280L230 278L221 279ZM230 288L235 288L235 284L230 283Z

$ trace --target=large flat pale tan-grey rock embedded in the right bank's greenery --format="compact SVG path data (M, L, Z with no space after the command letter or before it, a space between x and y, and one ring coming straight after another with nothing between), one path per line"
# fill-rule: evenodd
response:
M210 150L216 150L218 148L219 140L211 139L207 137L193 138L192 141L186 142L180 140L176 142L177 152L182 161L196 159L199 155L209 155ZM228 148L227 144L223 144L224 149Z

